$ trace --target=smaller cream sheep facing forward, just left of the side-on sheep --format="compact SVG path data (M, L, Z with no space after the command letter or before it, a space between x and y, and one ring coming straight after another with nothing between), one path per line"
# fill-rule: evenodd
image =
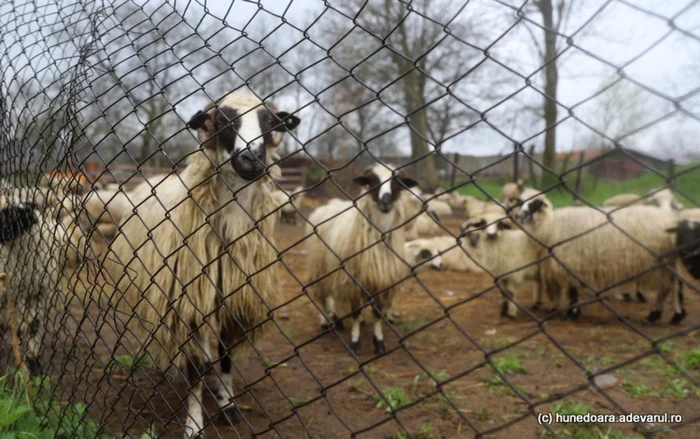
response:
M525 281L536 281L533 297L539 297L540 249L536 241L500 214L486 214L465 227L469 254L494 277L504 294L501 316L514 319L518 312L517 291Z

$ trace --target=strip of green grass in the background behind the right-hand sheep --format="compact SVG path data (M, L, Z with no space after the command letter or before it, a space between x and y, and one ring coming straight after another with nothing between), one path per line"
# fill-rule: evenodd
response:
M698 163L691 163L686 166L679 166L676 168L676 174L688 171L694 166L698 166ZM501 199L501 187L503 182L497 181L484 181L476 176L477 184L483 188L483 191L479 189L474 184L468 184L462 186L458 189L458 192L463 195L472 195L479 199L486 199L487 194L491 195L497 200ZM575 173L568 174L566 176L566 182L571 191L575 188L576 175ZM529 186L529 181L526 182ZM579 195L587 202L595 205L601 206L603 201L606 199L622 194L622 193L632 193L637 195L644 195L653 189L657 189L666 185L666 180L658 175L648 172L639 178L627 181L619 182L608 182L608 181L598 181L595 182L594 179L589 175L584 175L581 179L581 189ZM681 175L675 180L676 187L688 194L692 199L700 201L700 170L693 170L687 174ZM679 201L685 203L686 205L693 205L691 200L686 199L680 193L676 193ZM563 187L555 188L547 192L547 198L552 201L554 207L568 206L574 201L574 196L572 193Z

